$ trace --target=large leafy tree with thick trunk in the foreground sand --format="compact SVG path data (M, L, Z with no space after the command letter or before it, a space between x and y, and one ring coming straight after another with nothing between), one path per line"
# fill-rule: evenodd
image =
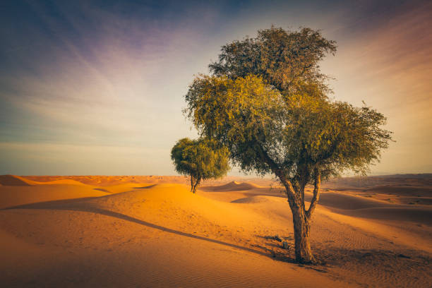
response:
M185 96L186 115L244 172L272 173L292 211L295 258L316 262L309 244L320 182L344 170L365 174L388 147L383 114L330 100L318 63L335 43L304 28L259 30L222 47L212 75L199 75ZM304 189L313 185L306 209Z

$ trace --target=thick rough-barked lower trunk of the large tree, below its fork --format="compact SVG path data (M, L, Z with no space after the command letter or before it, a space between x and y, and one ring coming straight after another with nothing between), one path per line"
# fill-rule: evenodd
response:
M309 235L311 232L311 223L309 222L306 212L301 205L290 205L292 210L292 222L294 223L294 246L296 262L298 263L315 263L309 244Z

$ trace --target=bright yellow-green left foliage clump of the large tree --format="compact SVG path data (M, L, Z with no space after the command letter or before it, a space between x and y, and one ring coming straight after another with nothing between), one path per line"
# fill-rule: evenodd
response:
M266 143L280 138L283 101L280 92L257 76L232 80L199 76L186 95L186 112L198 131L218 140L241 169L268 172L258 153ZM278 127L279 126L279 127Z

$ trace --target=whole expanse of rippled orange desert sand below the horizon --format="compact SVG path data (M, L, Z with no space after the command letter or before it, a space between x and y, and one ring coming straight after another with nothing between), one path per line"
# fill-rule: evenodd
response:
M206 181L196 195L187 184L0 176L1 286L432 287L432 175L325 183L311 226L322 264L311 266L293 263L272 179Z

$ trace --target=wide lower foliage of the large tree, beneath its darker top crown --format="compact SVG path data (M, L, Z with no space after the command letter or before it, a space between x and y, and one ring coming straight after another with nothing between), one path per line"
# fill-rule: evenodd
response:
M186 113L203 136L231 152L246 172L282 170L310 183L344 169L366 172L386 148L385 117L370 107L356 108L308 94L285 98L258 76L198 76L186 95Z

